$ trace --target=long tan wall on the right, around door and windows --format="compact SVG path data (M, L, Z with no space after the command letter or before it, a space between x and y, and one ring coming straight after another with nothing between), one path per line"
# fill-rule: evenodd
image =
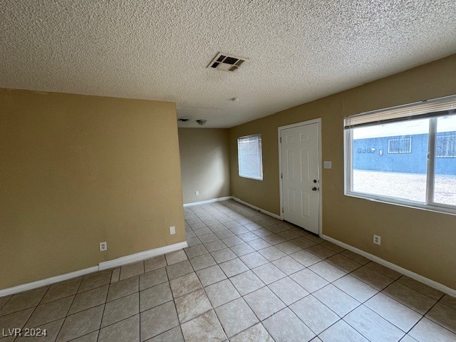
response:
M456 289L456 216L343 195L343 117L456 93L456 55L230 129L232 195L279 214L277 128L322 118L323 234ZM264 180L237 173L236 139L261 133ZM381 246L372 242L382 237Z

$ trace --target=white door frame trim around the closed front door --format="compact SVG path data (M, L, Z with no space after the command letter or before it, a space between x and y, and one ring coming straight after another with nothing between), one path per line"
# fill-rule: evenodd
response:
M284 219L284 212L283 207L284 207L284 193L283 193L283 185L282 182L284 181L281 178L281 173L282 173L282 153L281 153L281 142L280 142L280 133L281 130L286 130L287 128L295 128L299 126L305 126L305 125L312 125L316 123L317 124L317 132L318 132L318 147L317 147L317 159L318 159L318 167L317 167L317 172L318 172L318 180L319 180L319 203L318 203L318 235L321 236L323 234L323 228L322 228L322 209L323 209L323 196L321 195L321 189L322 189L322 174L321 174L321 118L316 118L312 120L307 120L303 121L301 123L292 123L291 125L285 125L285 126L280 126L277 128L277 144L279 146L279 192L280 192L280 217L283 220Z

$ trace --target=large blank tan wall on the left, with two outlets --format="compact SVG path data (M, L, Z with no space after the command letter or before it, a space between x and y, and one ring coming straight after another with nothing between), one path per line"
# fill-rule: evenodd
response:
M174 103L0 89L0 160L0 289L185 241Z

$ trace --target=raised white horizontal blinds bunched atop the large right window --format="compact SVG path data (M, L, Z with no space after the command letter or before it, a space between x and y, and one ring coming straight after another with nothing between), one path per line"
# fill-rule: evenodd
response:
M456 95L351 115L343 119L343 126L345 128L353 128L356 126L451 114L456 114Z

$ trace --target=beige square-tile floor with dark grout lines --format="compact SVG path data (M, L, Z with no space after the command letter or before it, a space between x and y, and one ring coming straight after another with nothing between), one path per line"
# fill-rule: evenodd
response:
M185 250L0 298L0 341L456 341L455 298L292 224L232 201L185 221Z

